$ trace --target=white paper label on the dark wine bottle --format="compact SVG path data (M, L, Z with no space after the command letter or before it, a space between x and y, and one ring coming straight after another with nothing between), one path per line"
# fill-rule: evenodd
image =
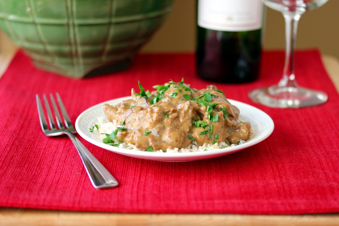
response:
M262 26L261 0L199 0L198 25L211 30L239 32Z

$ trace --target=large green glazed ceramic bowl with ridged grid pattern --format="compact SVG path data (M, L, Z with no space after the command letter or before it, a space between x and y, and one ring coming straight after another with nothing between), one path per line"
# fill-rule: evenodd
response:
M0 28L37 67L82 78L130 66L173 1L0 1Z

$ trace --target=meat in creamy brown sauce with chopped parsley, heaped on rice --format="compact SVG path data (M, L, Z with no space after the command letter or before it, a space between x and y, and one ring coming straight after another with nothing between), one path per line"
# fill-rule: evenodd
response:
M153 150L166 150L185 148L193 140L203 145L236 144L250 139L250 123L238 122L239 109L214 85L201 90L191 89L183 82L163 87L167 85L155 103L154 97L159 97L161 89L147 98L132 89L131 100L104 105L108 121L115 119L124 124L125 129L117 130L118 140L135 144L139 149L152 146Z

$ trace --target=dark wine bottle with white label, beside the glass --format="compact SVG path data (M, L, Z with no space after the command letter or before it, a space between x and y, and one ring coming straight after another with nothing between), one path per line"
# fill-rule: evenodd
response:
M198 0L198 76L224 83L256 80L262 15L261 0Z

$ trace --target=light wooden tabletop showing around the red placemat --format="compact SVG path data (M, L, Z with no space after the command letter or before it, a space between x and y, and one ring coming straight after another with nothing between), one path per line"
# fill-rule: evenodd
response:
M0 53L0 77L6 70L14 52ZM323 56L325 68L339 92L339 60L332 56ZM56 210L36 210L0 207L0 226L35 225L137 225L137 226L174 226L174 225L339 225L339 214L306 215L240 215L240 214L131 214L103 212L72 212Z

